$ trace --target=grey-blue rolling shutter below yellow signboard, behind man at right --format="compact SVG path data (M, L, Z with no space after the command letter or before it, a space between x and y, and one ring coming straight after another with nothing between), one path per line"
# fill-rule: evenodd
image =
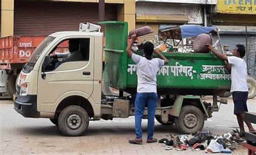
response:
M248 73L251 77L256 79L256 66L255 66L255 53L256 53L256 36L255 35L247 35L247 44L248 44ZM217 40L217 37L213 37L213 41ZM221 45L229 46L229 51L233 51L235 45L244 44L246 45L246 37L245 34L220 34ZM220 47L218 47L218 51ZM246 54L244 57L246 61Z

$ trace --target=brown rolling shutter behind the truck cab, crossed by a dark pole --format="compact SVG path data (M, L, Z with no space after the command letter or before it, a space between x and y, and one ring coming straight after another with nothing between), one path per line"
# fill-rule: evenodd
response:
M105 20L117 20L117 5L105 4L105 8ZM15 35L78 31L82 22L97 24L98 3L15 1Z

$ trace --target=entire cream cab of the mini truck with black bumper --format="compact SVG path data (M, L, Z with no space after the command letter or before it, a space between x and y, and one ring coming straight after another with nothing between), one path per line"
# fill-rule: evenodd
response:
M56 32L46 37L19 74L14 96L15 110L24 117L51 118L58 124L56 118L63 108L80 105L89 118L99 119L102 39L103 33L99 31ZM58 53L58 47L64 48L62 45L67 43L69 47L62 51L66 55L72 54L72 40L76 41L77 47L73 48L82 58L63 61L52 58ZM83 121L78 115L69 120Z

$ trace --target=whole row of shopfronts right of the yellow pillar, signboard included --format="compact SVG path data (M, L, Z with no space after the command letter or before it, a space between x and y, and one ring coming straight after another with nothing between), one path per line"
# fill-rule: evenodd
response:
M154 31L140 41L156 40L161 25L183 24L217 26L229 51L246 45L248 74L256 78L256 0L136 0L136 27L149 25Z

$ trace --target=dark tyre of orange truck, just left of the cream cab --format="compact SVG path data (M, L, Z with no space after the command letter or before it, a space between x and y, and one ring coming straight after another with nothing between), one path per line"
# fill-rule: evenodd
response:
M6 79L6 83L5 83L6 91L8 96L10 96L11 98L16 93L16 86L15 86L16 79L17 79L17 76L14 74L9 74Z

